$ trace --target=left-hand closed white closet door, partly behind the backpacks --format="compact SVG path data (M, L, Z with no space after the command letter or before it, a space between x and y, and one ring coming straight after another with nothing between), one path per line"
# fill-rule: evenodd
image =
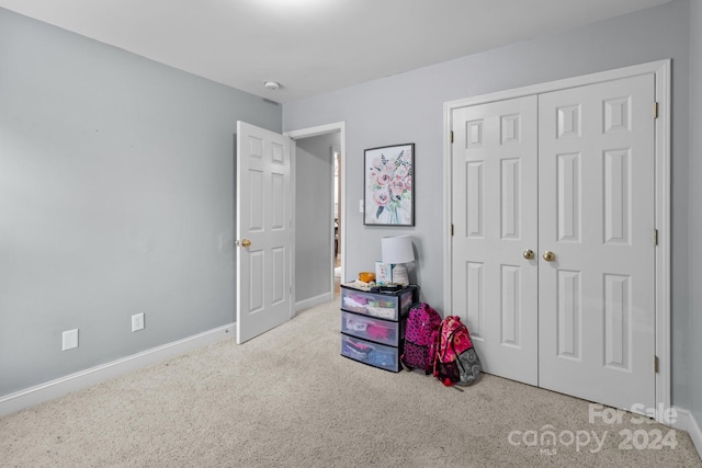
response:
M485 370L537 384L536 96L454 111L453 304ZM526 256L526 258L525 258Z

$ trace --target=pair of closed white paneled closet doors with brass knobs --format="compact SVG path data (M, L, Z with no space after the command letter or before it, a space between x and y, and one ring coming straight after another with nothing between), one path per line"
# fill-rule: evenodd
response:
M644 75L453 111L452 307L487 373L655 407L653 103Z

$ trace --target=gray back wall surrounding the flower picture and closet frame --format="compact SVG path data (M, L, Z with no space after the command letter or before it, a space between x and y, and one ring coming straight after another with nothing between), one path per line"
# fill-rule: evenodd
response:
M689 10L689 1L678 0L283 105L285 130L346 121L347 276L374 264L381 237L409 233L422 298L442 309L444 102L672 58L672 395L687 407ZM363 226L355 208L363 197L363 149L408 141L416 144L416 227Z

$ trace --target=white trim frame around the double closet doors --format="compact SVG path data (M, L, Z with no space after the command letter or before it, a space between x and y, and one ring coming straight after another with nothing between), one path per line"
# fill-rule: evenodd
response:
M653 61L615 70L567 78L546 83L499 91L474 98L444 102L444 147L443 147L443 184L444 184L444 309L452 315L452 242L451 242L451 128L453 110L468 105L485 104L494 101L541 94L568 88L593 84L639 75L655 75L655 101L658 103L658 118L655 122L655 220L658 230L658 248L656 249L656 355L658 356L658 374L656 374L656 420L665 421L665 411L670 408L670 60ZM653 105L652 105L653 112ZM653 363L652 363L653 365ZM654 409L652 409L653 411ZM661 411L663 410L663 411Z

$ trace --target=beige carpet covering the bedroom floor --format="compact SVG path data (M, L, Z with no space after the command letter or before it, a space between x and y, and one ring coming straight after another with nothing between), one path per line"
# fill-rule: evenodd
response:
M494 376L456 391L339 345L330 304L36 406L0 420L0 466L702 467L684 432L590 422L586 401Z

